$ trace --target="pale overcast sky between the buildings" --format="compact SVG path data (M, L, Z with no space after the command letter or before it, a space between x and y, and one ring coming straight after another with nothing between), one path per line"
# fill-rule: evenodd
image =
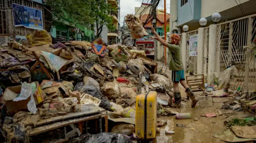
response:
M127 14L135 14L135 7L140 7L143 0L120 0L120 23L121 26L124 22L124 16ZM143 3L147 3L148 0L144 0ZM150 2L150 0L149 0ZM148 3L149 3L148 2ZM164 9L164 0L158 5L158 9ZM166 0L166 12L170 12L170 0Z

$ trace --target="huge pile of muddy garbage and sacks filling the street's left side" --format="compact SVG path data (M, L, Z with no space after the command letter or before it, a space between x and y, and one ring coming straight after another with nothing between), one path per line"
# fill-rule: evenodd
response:
M101 38L65 41L36 31L22 43L0 46L0 53L0 132L8 143L28 140L40 119L80 112L81 105L104 108L117 115L109 116L114 120L135 118L136 96L152 89L161 91L158 103L172 103L171 81L134 47Z

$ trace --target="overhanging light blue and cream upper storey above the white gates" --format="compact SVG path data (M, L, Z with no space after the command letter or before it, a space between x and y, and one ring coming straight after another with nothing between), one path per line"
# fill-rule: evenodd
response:
M207 26L214 24L212 14L218 12L221 22L234 20L256 13L256 0L170 0L171 29L182 29L188 25L192 31L200 27L199 20L207 19Z

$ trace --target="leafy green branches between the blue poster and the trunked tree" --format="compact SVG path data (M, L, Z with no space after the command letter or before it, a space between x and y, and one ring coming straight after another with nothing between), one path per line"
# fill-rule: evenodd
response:
M93 0L47 0L46 4L52 7L54 18L66 18L73 24L91 27L94 18L90 15L90 1Z

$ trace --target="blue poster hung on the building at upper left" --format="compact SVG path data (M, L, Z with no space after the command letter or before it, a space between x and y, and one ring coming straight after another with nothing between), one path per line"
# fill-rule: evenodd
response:
M14 9L13 21L15 27L24 26L30 29L44 29L42 10L19 4L12 4L12 8Z

